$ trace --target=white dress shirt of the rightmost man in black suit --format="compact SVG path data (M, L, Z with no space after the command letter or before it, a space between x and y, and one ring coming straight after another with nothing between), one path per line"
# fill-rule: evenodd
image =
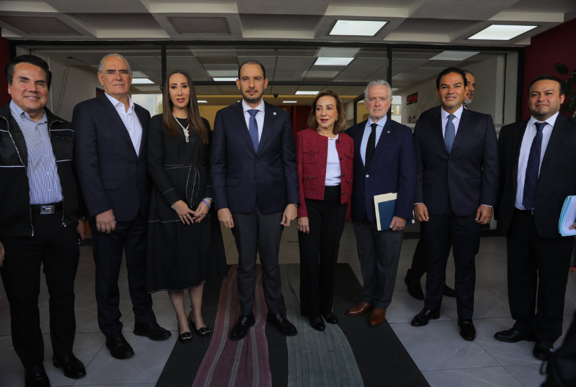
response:
M556 123L556 118L558 118L558 113L553 115L547 122L548 125L544 125L542 129L542 148L540 150L540 165L538 167L538 175L540 174L540 167L542 167L542 159L544 158L544 153L546 153L546 147L550 141L550 136L552 135L552 129L554 129L554 124ZM532 147L532 141L536 137L536 120L534 117L530 117L528 120L528 125L526 126L526 131L524 132L524 137L522 139L522 146L520 148L520 157L518 158L518 178L516 179L516 202L514 207L518 210L530 210L530 208L524 208L522 201L524 198L524 182L526 179L526 167L528 167L528 157L530 156L530 148Z

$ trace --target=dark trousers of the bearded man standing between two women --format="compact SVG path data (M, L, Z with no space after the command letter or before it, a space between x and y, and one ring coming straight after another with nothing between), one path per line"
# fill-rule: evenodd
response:
M284 226L282 212L264 214L258 209L247 214L233 212L234 227L232 234L238 249L238 297L240 312L247 316L254 307L256 290L256 254L260 254L262 264L262 286L268 313L280 313L282 282L280 281L280 239Z

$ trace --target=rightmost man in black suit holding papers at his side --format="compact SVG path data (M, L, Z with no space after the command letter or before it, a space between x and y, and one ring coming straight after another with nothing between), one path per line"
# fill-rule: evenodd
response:
M503 127L499 138L497 219L508 246L508 300L516 322L494 336L536 341L532 353L545 360L562 334L574 248L573 236L558 233L558 220L566 196L576 195L576 120L558 113L564 101L558 78L541 75L528 91L532 117Z

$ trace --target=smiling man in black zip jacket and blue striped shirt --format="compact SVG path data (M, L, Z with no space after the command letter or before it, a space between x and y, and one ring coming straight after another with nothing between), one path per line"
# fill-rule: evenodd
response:
M6 79L12 101L0 109L0 273L25 385L50 386L38 308L41 265L50 294L53 364L69 378L86 375L72 353L77 233L84 239L74 129L46 108L51 72L41 58L14 58Z

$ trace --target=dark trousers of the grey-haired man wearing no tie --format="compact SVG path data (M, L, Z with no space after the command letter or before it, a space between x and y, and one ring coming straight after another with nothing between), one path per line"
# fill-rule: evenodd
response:
M146 247L148 222L137 215L131 222L117 222L116 230L104 234L90 221L94 261L96 262L96 304L98 326L105 336L122 331L118 277L122 253L126 253L128 286L136 324L155 322L152 296L146 293Z

